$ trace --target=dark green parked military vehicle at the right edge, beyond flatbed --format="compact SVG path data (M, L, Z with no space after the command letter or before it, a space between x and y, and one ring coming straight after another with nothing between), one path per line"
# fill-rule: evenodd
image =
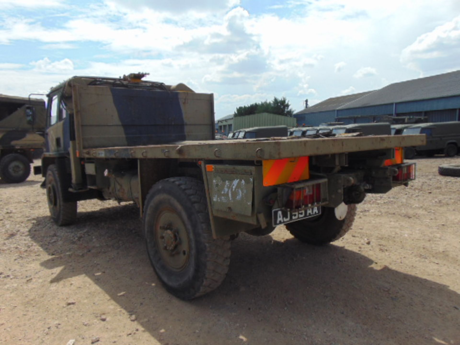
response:
M407 159L415 155L431 157L444 154L454 157L459 153L460 147L460 121L419 123L403 130L403 135L425 134L426 144L404 149Z

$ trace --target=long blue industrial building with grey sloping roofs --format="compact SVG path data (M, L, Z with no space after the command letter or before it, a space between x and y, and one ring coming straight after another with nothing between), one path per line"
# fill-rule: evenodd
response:
M460 121L460 71L329 98L297 112L294 117L299 126L334 121L381 122L391 117L425 117L427 122Z

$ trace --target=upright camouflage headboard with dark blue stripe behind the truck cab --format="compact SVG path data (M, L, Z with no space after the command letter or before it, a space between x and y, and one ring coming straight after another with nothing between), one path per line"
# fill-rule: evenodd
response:
M63 91L78 150L214 139L213 95L184 84L74 77Z

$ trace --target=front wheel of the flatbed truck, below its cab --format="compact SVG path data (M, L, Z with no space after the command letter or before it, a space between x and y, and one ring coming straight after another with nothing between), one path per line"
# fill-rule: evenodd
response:
M65 201L64 193L70 181L66 179L56 165L52 164L46 171L45 188L51 218L59 226L75 223L77 218L77 201Z

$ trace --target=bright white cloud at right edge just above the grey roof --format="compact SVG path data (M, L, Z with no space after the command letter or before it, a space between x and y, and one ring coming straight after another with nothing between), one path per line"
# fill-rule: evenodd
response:
M458 69L460 55L460 16L437 26L401 52L401 62L420 71Z

